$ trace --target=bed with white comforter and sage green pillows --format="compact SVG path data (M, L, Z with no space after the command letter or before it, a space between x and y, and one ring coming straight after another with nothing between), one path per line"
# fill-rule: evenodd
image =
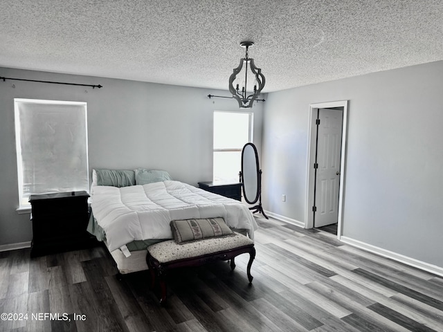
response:
M107 246L120 274L147 270L146 248L172 239L170 221L222 217L253 239L257 223L239 201L173 181L160 170L94 169L88 231Z

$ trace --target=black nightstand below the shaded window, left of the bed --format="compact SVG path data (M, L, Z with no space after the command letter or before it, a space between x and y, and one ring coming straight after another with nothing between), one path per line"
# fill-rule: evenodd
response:
M87 192L30 195L33 242L30 255L87 248L96 239L87 232Z

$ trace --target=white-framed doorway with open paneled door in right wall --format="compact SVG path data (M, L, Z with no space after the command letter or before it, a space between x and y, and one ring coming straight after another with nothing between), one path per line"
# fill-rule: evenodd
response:
M310 105L305 228L342 232L347 100Z

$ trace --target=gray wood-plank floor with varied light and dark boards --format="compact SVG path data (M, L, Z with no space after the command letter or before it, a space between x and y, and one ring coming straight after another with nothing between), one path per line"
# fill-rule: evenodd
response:
M0 331L443 331L442 277L328 232L257 222L251 286L248 255L233 272L226 262L181 270L165 308L147 271L118 281L105 248L0 252L0 313L28 314Z

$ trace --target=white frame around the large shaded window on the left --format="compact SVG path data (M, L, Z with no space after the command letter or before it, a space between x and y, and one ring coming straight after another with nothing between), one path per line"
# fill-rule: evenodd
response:
M87 176L87 188L85 190L89 192L89 149L88 149L88 107L87 102L73 102L65 100L41 100L41 99L28 99L28 98L14 98L14 116L15 116L15 144L16 144L16 156L17 156L17 185L18 185L18 199L19 207L17 212L26 213L30 212L30 203L24 204L24 174L23 163L21 157L21 125L19 116L18 104L50 104L50 105L64 105L64 106L82 106L84 107L84 127L85 127L85 147L86 147L86 176Z

